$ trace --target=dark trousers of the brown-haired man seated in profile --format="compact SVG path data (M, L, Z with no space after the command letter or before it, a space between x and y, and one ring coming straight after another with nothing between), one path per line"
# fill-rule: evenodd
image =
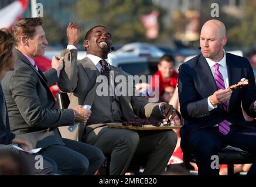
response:
M40 154L54 160L61 175L94 175L103 164L104 155L97 147L63 138L65 146L52 145Z

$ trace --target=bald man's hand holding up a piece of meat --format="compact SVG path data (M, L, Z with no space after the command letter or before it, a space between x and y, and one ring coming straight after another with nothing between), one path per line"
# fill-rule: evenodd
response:
M231 89L219 89L218 91L214 92L213 95L209 97L211 105L216 106L220 103L224 103L228 101L231 97L232 90Z

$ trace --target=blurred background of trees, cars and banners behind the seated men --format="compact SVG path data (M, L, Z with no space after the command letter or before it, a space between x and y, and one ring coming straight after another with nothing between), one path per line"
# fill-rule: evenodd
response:
M35 3L43 5L40 13L49 42L45 56L37 60L42 70L66 48L69 22L82 28L78 58L86 56L82 43L87 30L104 25L111 30L115 47L110 63L132 75L152 75L165 53L175 57L176 69L199 54L203 23L219 19L227 29L226 51L247 57L256 72L254 0L1 0L0 27L11 28L16 19L31 17ZM211 17L213 4L219 5L219 17Z

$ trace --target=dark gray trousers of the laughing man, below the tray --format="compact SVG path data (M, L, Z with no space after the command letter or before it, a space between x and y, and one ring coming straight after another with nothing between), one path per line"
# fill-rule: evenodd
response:
M98 127L86 136L86 143L111 155L110 175L124 175L132 158L148 157L143 175L161 175L177 142L173 130L134 131Z

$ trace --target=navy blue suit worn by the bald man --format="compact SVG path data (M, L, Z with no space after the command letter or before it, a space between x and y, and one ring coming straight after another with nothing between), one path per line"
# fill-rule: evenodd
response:
M241 78L247 78L247 88L235 89L228 101L228 109L224 111L220 104L209 112L207 98L217 91L217 85L209 64L200 54L180 65L179 68L179 100L180 112L185 124L180 131L181 146L185 153L193 153L197 157L199 174L218 174L210 168L210 156L216 154L227 145L256 153L256 125L246 122L243 117L241 103L249 116L256 117L253 103L256 100L254 74L249 61L244 57L226 53L226 64L229 85L237 84ZM216 124L224 119L232 123L230 133L226 136L219 132ZM248 136L252 133L252 136Z

